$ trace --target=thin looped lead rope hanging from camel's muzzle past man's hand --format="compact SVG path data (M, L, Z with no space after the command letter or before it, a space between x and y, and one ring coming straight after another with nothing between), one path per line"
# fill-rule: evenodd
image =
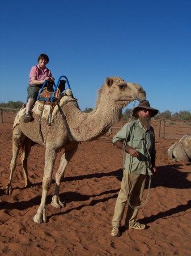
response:
M133 156L130 156L130 164L129 164L129 167L130 167L129 168L130 169L129 174L128 174L129 192L128 192L128 189L127 189L127 180L126 180L126 175L125 175L125 155L126 155L125 146L126 146L126 142L128 141L130 121L131 121L131 118L133 116L134 107L135 107L135 100L134 100L134 103L133 103L133 109L131 110L131 113L130 113L130 116L129 116L129 122L128 122L128 126L127 126L127 129L126 129L126 137L125 137L125 141L124 141L124 144L123 144L123 147L122 147L122 161L123 161L123 177L124 177L124 182L125 182L125 191L126 191L126 196L127 196L129 206L130 206L131 209L139 209L139 208L144 207L146 205L147 201L148 201L149 193L150 193L150 186L151 186L151 176L149 177L148 193L147 193L147 197L146 197L145 202L143 204L138 205L137 207L134 207L133 205L130 204L130 201L129 201L129 192L130 192L130 189L131 189L130 174L131 174ZM145 150L145 148L144 148L144 150Z

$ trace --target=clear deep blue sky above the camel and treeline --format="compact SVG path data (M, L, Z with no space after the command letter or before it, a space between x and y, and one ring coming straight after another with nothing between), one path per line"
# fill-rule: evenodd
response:
M120 76L160 112L191 111L190 0L1 0L0 22L0 102L26 102L29 71L46 53L82 110Z

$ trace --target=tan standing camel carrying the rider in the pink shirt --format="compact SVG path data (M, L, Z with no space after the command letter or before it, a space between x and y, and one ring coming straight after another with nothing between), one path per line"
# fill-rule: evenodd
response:
M5 193L12 192L11 180L16 167L16 159L20 148L22 148L21 162L24 172L26 187L31 185L27 174L27 158L31 146L39 143L45 147L45 164L43 176L43 193L41 203L33 220L40 224L46 222L46 196L52 183L52 171L56 155L61 148L65 152L61 156L60 166L56 172L56 188L52 197L52 205L58 209L64 207L59 197L61 179L65 169L75 152L78 144L82 141L93 141L109 130L113 123L121 119L122 109L133 100L145 100L146 93L143 88L134 83L125 82L118 76L107 77L103 86L98 91L95 109L90 113L84 113L79 109L77 101L69 101L62 106L62 111L66 116L69 126L66 129L60 112L54 115L52 126L48 126L46 121L41 121L41 133L39 131L39 116L33 113L33 122L24 123L23 118L13 129L12 135L12 160L10 164L11 174ZM16 119L16 118L15 118ZM41 135L40 135L41 134Z

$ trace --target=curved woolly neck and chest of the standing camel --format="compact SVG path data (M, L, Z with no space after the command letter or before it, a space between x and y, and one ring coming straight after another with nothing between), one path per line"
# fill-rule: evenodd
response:
M76 141L92 141L101 137L121 118L121 108L113 108L109 99L100 100L99 105L91 113L83 113L76 108L70 110L73 114L70 113L70 117L67 114L67 119Z

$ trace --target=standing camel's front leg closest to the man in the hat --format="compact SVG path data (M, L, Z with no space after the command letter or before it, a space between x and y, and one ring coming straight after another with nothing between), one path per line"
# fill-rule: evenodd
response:
M61 157L61 162L60 162L58 171L56 172L56 187L55 187L54 196L52 197L51 204L53 205L53 207L56 207L58 209L65 207L64 204L60 201L60 197L59 197L60 184L61 184L61 180L64 175L64 172L66 170L66 166L70 162L75 152L77 151L77 148L78 148L78 145L77 147L73 148L73 150L65 151L65 153Z

